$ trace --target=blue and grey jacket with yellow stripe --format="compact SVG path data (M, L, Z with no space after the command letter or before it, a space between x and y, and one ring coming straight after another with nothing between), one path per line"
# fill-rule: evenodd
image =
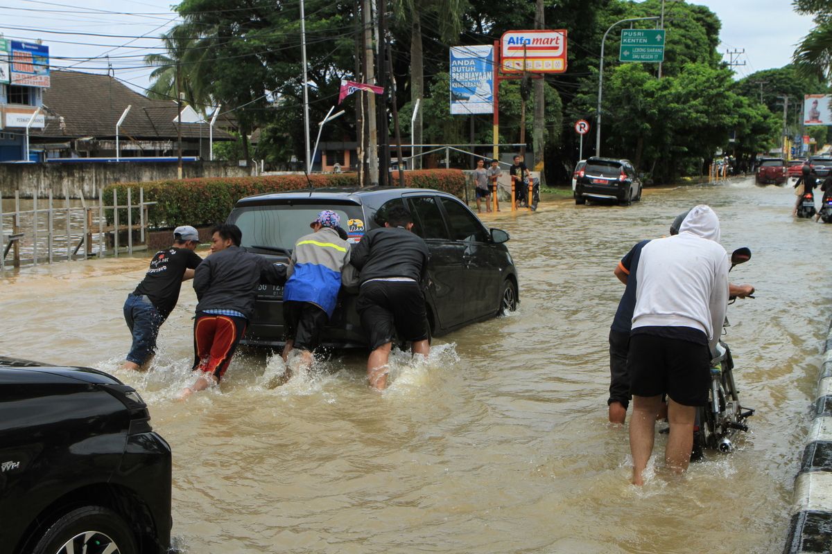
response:
M349 263L349 243L333 228L324 227L298 239L283 292L284 301L312 302L332 317L341 271Z

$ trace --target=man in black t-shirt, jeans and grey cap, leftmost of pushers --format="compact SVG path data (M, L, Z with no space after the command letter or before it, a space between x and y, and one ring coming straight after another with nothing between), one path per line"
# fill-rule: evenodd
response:
M194 277L202 258L196 255L200 235L190 225L177 227L171 248L160 250L136 290L124 302L124 319L133 336L123 367L138 370L156 351L159 327L176 307L182 282Z

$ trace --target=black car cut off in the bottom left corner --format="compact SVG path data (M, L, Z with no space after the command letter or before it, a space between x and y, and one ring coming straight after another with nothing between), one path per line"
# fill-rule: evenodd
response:
M149 420L102 371L0 357L0 552L168 552L171 449Z

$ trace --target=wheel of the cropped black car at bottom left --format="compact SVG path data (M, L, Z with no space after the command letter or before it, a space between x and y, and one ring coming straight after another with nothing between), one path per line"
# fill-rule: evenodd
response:
M33 554L138 554L130 527L112 510L79 507L52 523L37 542Z

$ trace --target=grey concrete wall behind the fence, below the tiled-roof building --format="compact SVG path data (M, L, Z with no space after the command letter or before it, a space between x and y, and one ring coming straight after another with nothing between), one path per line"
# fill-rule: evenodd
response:
M249 169L228 162L186 162L182 176L245 177ZM19 191L22 198L37 194L46 198L67 192L72 198L97 198L98 189L111 183L176 179L176 163L170 162L90 162L77 164L0 164L0 194L4 198Z

